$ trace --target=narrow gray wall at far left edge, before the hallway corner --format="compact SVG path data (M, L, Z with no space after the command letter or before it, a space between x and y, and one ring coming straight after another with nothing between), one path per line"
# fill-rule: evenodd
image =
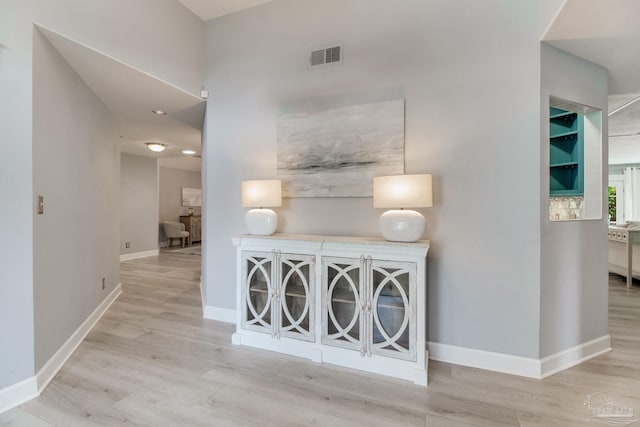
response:
M27 4L0 12L0 390L34 373L31 40Z

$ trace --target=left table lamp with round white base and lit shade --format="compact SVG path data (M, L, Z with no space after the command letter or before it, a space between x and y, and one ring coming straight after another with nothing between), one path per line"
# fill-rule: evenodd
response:
M272 235L278 227L278 215L271 209L264 208L279 206L282 206L282 181L242 181L242 207L255 208L244 216L249 234Z

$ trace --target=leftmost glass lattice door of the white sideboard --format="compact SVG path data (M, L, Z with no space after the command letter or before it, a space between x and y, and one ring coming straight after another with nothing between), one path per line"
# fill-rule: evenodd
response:
M273 333L271 253L243 253L242 327Z

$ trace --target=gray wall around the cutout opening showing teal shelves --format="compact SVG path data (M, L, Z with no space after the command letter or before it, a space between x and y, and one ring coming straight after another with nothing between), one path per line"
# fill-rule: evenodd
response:
M562 351L607 334L607 213L602 218L549 221L549 96L607 111L607 70L547 44L541 45L540 218L542 263L540 283L540 356ZM606 114L602 134L607 135ZM602 164L607 164L606 139ZM603 188L607 168L602 168Z

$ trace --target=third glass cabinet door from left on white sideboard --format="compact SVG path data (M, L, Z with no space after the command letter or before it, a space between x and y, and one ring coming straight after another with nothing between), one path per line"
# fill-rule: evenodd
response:
M363 351L361 261L324 257L322 343Z

